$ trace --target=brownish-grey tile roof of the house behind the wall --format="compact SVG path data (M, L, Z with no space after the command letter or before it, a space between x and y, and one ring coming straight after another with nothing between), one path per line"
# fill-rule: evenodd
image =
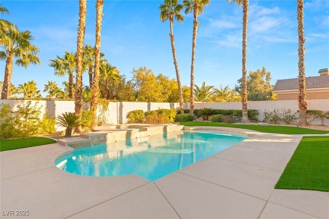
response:
M306 89L321 88L321 87L329 88L329 76L306 77L305 82L306 82ZM273 87L273 91L290 90L290 89L299 89L298 78L278 80Z

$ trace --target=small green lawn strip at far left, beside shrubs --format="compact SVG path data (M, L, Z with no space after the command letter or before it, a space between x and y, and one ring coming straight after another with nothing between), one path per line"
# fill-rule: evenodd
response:
M16 138L8 140L0 140L0 151L8 151L20 148L28 148L43 144L56 143L57 141L50 138L31 137L31 138Z

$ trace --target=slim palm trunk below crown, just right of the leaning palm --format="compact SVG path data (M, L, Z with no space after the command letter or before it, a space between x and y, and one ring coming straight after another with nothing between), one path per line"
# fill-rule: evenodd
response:
M194 62L195 62L195 47L196 47L196 31L197 31L197 27L199 26L199 22L197 22L197 16L199 14L197 4L194 4L193 8L194 8L193 9L194 20L193 20L191 84L190 84L191 86L190 114L191 115L193 115L193 109L194 109Z

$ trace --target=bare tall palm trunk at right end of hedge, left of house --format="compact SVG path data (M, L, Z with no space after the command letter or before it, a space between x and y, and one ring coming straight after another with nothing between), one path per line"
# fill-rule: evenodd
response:
M243 31L242 31L242 122L250 122L248 118L248 97L247 97L247 29L248 29L248 7L249 1L242 3L243 10Z

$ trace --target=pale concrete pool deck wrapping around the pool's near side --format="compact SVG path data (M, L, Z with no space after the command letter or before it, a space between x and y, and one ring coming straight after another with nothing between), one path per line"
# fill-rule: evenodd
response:
M64 172L59 143L0 152L1 218L329 218L329 192L274 189L303 136L255 133L154 182Z

